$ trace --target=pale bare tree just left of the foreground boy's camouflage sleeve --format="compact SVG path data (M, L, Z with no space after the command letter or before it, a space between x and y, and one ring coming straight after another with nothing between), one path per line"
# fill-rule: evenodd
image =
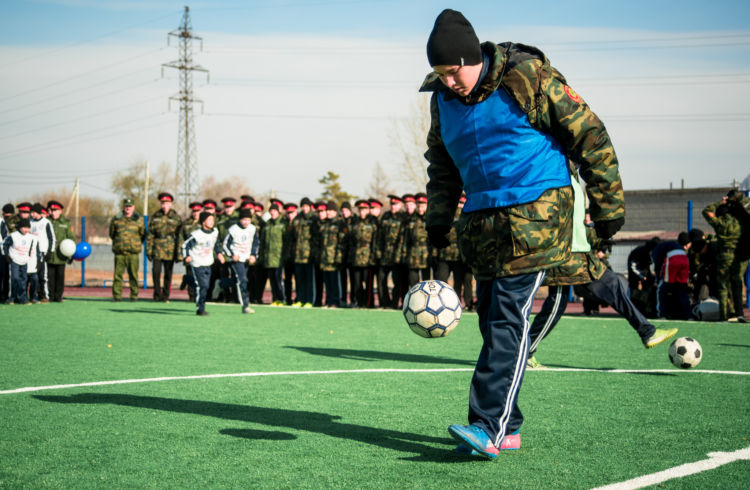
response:
M411 114L394 121L390 133L391 147L396 152L395 161L401 168L401 181L412 191L424 190L427 185L427 132L430 129L430 98L419 94L411 106Z

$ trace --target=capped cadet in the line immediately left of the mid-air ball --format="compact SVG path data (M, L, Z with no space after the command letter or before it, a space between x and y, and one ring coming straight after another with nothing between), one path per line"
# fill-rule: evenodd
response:
M398 268L399 238L404 222L403 200L400 196L389 195L391 209L380 217L376 250L380 259L378 270L378 296L380 306L384 308L398 308ZM388 276L393 281L393 292L388 291Z

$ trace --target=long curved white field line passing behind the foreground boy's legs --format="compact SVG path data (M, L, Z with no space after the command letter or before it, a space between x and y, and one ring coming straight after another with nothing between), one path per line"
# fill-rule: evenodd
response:
M471 372L472 368L444 368L444 369L334 369L329 371L274 371L274 372L256 372L256 373L230 373L230 374L199 374L194 376L164 376L160 378L140 378L140 379L119 379L112 381L91 381L88 383L74 383L64 385L50 386L27 386L24 388L15 388L12 390L2 390L0 395L11 395L13 393L29 393L33 391L44 390L62 390L66 388L82 388L86 386L107 386L122 385L133 383L154 383L158 381L179 381L191 379L212 379L212 378L249 378L256 376L298 376L309 374L359 374L359 373L455 373ZM615 373L615 374L648 374L648 373L685 373L685 374L729 374L748 376L750 372L745 371L710 371L705 369L691 369L677 371L675 369L584 369L584 368L549 368L549 369L528 369L532 372L591 372L591 373Z

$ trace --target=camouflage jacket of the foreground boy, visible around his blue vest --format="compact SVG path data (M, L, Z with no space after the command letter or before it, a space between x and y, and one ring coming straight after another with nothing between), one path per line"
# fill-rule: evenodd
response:
M529 123L554 137L586 182L591 217L605 221L625 216L617 157L604 124L538 49L522 44L483 43L491 66L478 91L458 97L478 104L505 90ZM422 88L435 92L427 135L427 226L450 226L463 182L441 137L437 92L448 90L435 73ZM478 279L533 272L570 259L573 192L548 189L535 202L463 213L458 223L462 257Z

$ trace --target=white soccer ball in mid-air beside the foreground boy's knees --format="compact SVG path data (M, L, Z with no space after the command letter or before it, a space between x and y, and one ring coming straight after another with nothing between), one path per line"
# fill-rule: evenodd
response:
M403 312L409 328L420 337L445 337L461 319L461 300L443 281L422 281L406 293Z

